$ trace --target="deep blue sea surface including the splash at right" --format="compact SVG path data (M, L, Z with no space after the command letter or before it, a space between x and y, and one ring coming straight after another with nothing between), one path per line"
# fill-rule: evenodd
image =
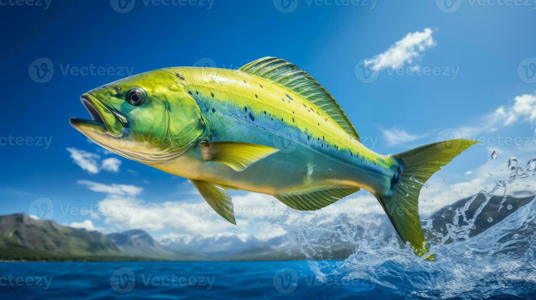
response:
M518 178L536 175L536 157L526 168L511 169L508 179L480 193L489 200ZM436 261L415 256L382 232L362 238L352 226L289 225L302 253L325 245L326 232L328 244L351 243L355 253L316 261L1 262L0 298L536 299L536 201L471 237L488 204L466 215L475 197L454 208L455 221L445 232L422 220ZM503 204L499 209L511 209ZM312 235L300 238L304 232Z

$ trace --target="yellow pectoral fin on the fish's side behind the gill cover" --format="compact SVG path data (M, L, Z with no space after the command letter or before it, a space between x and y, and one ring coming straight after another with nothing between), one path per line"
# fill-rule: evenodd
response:
M227 164L240 172L279 149L247 142L200 142L203 159Z

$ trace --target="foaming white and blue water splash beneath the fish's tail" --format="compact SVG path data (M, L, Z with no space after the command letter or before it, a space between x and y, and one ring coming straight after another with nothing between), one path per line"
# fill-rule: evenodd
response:
M514 167L509 178L494 181L493 187L482 189L464 206L449 207L454 209L452 222L442 224L438 231L433 230L432 224L444 222L444 215L438 220L423 218L421 224L430 253L436 255L435 262L415 256L396 234L385 236L384 230L367 229L368 223L359 219L334 220L322 211L288 210L277 223L294 239L297 248L292 251L299 251L308 259L321 253L325 253L321 254L323 259L329 259L339 246L353 246L354 253L343 261L308 261L322 282L337 278L366 280L386 294L406 298L528 298L536 294L536 201L518 208L499 223L488 219L492 227L470 237L477 217L492 196L502 192L500 210L507 199L507 186L528 174L536 174L536 157L526 168ZM485 200L468 217L468 209L479 195ZM507 209L512 209L512 205ZM375 219L379 228L390 227L380 214L368 217ZM301 223L296 224L297 220Z

